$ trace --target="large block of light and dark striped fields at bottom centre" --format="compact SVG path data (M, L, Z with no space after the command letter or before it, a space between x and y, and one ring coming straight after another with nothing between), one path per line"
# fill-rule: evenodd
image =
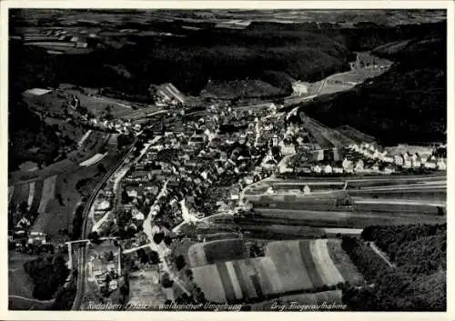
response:
M339 243L334 245L338 246L337 251L342 251ZM345 280L358 284L355 267L347 262L341 266L346 279L329 255L328 240L317 239L270 242L264 257L197 266L193 273L209 300L232 302L298 290L317 291Z

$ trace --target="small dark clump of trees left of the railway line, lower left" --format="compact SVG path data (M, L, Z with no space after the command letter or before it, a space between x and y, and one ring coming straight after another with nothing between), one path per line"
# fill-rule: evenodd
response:
M26 262L24 269L34 281L33 296L38 300L53 298L59 286L62 286L69 276L69 270L62 256L38 257Z

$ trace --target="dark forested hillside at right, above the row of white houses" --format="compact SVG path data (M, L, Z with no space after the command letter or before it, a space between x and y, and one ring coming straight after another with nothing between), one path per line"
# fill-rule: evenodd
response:
M302 110L325 125L350 125L383 145L446 140L446 36L378 50L388 72L347 92L320 96Z

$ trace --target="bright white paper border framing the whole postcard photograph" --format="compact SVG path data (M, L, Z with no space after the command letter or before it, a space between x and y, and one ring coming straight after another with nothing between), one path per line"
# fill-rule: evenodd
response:
M455 113L453 111L454 99L453 91L451 88L455 87L453 79L453 60L455 52L453 50L454 38L453 38L453 28L454 28L454 15L453 15L453 2L451 1L99 1L99 0L2 0L0 1L0 15L1 15L1 25L0 25L0 59L2 71L0 75L0 101L1 101L1 110L0 110L0 151L1 155L7 155L7 62L8 62L8 23L7 23L7 13L8 8L169 8L169 9L203 9L203 8L245 8L245 9L286 9L286 8L295 8L295 9L381 9L381 8L408 8L408 9L448 9L448 145L452 146L454 142L454 125ZM448 155L448 196L447 196L447 208L448 208L448 225L450 232L448 233L448 312L447 313L318 313L318 312L308 312L302 316L301 313L287 312L284 317L289 320L302 320L302 317L308 317L311 321L315 320L337 320L341 321L343 319L349 321L357 320L455 320L455 306L451 305L450 302L455 302L454 297L454 277L455 265L453 261L453 255L455 247L453 242L455 236L453 236L453 223L455 217L453 216L454 212L454 158L455 154L449 151ZM1 206L3 208L7 205L7 158L4 156L0 164L2 166L2 187L1 191ZM451 169L450 169L451 168ZM0 281L3 285L7 284L7 277L5 273L7 257L6 257L6 242L1 240L6 239L6 229L5 224L4 228L0 231L0 249L2 249L2 258L3 264L0 266ZM233 315L232 313L223 313L218 312L214 313L197 313L194 312L179 312L179 313L140 313L135 312L133 315L127 313L116 313L116 312L101 312L101 313L89 313L89 312L55 312L55 311L43 311L43 312L9 312L7 311L7 286L1 286L0 290L0 319L21 319L21 320L123 320L131 319L133 316L135 319L140 320L150 320L152 318L158 320L191 320L197 318L198 321L212 320L216 318L218 321L221 320L232 320L233 316L236 320L245 319L252 321L254 317L258 317L261 321L267 321L272 319L279 319L283 317L278 313L266 313L266 312L248 312L248 313L238 313Z

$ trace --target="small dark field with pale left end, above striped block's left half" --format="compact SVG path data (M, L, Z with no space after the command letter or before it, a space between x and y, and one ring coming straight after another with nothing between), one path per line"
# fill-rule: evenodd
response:
M188 249L190 266L205 266L231 259L247 257L243 239L225 239L197 243Z

